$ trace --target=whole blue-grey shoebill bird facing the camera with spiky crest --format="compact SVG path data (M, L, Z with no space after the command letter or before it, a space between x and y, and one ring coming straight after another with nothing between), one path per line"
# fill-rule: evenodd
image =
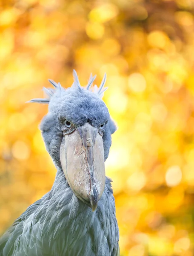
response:
M51 79L40 130L57 172L51 190L31 204L0 238L0 256L119 256L119 228L105 161L117 127L99 87L71 87Z

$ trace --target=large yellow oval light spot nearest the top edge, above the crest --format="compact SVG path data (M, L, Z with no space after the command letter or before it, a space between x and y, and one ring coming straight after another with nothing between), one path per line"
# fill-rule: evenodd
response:
M118 8L112 3L106 3L100 7L94 8L89 13L89 19L98 22L104 23L112 18L116 17L118 14Z

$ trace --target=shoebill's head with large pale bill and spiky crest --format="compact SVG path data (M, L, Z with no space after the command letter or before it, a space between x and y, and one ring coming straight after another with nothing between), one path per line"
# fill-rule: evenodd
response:
M101 99L106 75L100 87L92 87L95 76L81 87L74 71L74 83L65 89L49 80L54 89L43 88L48 99L30 102L47 103L48 114L40 129L48 153L63 169L74 194L94 211L105 187L105 165L116 126Z

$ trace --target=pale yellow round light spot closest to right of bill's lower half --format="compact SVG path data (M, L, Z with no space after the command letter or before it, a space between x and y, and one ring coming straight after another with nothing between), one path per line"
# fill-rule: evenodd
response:
M145 186L146 177L143 172L134 172L127 180L127 184L131 190L139 191Z

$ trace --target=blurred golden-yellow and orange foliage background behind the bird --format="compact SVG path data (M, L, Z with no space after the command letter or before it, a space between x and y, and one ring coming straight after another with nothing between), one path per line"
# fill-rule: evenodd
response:
M47 79L108 90L122 256L194 255L194 1L0 1L0 233L51 189Z

